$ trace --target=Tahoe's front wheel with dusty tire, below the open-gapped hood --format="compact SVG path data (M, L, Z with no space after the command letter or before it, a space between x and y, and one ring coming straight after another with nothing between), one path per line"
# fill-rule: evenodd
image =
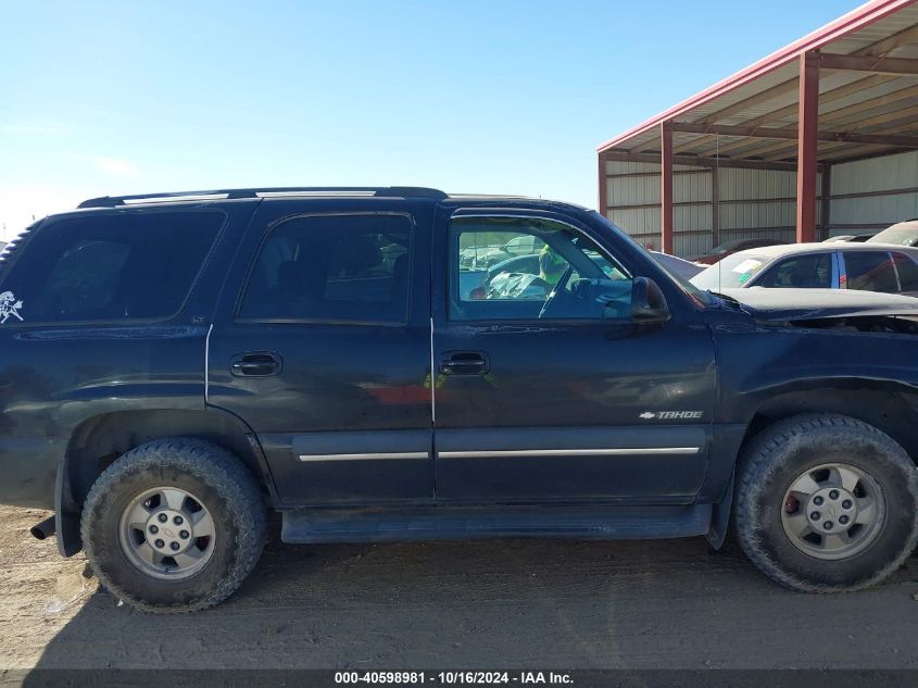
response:
M869 587L918 542L918 471L892 438L842 415L797 415L740 456L740 546L777 583L810 592Z

